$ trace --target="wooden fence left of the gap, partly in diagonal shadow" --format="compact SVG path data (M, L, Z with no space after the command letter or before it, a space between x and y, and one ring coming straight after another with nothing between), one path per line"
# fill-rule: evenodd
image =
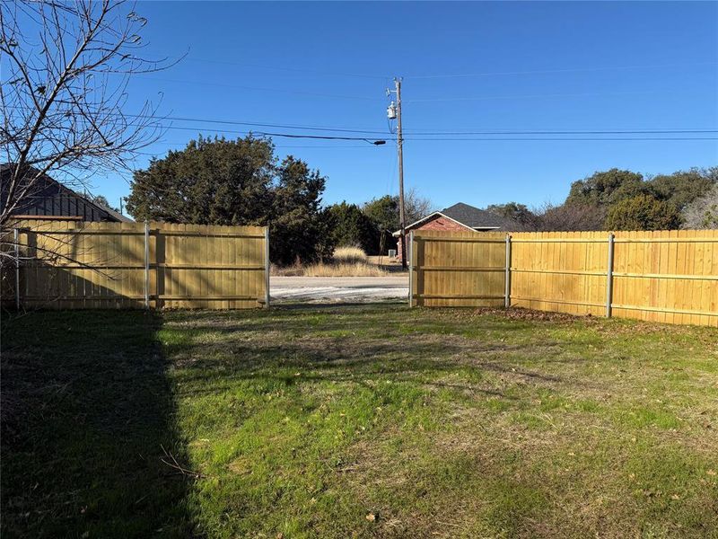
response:
M269 305L263 227L45 220L13 226L20 263L13 278L8 270L4 278L14 281L20 307Z

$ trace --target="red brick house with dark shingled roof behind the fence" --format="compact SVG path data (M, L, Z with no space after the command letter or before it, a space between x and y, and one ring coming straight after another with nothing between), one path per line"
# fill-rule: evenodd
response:
M450 208L434 211L428 216L407 225L407 236L411 230L473 230L488 232L496 230L511 230L511 221L497 216L485 209L474 208L463 202L454 204ZM399 238L401 231L395 232L394 237ZM408 241L408 238L407 238ZM398 241L398 259L401 259L401 241Z

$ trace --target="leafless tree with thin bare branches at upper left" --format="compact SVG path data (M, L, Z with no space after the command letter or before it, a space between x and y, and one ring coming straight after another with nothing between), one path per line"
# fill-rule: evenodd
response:
M0 234L48 173L72 184L127 170L162 135L151 102L126 111L130 77L171 65L141 56L146 22L122 0L0 4Z

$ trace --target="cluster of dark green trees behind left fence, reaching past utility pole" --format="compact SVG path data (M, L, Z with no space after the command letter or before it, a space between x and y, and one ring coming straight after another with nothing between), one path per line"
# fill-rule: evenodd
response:
M397 197L323 208L327 179L292 155L279 161L274 150L271 140L252 136L191 140L134 172L127 211L138 220L268 225L270 259L282 266L326 259L337 246L369 254L396 247ZM407 223L431 209L414 190L406 199Z

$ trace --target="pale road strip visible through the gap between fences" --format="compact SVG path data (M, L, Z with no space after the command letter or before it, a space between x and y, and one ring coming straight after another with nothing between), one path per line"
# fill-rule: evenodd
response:
M271 277L272 301L371 302L404 299L409 278L401 277Z

